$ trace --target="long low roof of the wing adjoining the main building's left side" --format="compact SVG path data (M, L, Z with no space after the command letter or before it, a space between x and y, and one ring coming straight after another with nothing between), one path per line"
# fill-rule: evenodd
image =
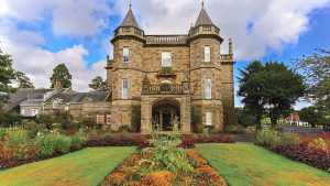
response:
M106 101L109 95L109 91L62 92L55 95L53 99L61 99L61 102L67 103Z

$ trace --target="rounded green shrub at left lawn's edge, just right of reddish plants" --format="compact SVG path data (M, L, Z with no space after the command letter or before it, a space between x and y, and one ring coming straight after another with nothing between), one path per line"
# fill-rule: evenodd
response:
M47 134L37 139L38 151L36 152L40 157L51 156L55 153L55 135Z

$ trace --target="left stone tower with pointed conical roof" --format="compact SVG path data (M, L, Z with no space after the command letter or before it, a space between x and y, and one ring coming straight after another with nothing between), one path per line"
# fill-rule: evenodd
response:
M114 30L113 61L108 62L108 86L112 91L112 129L120 125L132 125L140 116L142 56L144 32L139 28L130 4L121 25Z

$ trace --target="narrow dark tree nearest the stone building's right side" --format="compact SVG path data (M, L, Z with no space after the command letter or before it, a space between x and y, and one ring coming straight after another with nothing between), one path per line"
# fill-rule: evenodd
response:
M260 61L248 65L245 69L239 69L241 77L239 78L240 89L238 95L243 97L242 102L245 109L254 113L258 129L261 129L261 119L265 105L262 94L263 84L260 77L263 65Z

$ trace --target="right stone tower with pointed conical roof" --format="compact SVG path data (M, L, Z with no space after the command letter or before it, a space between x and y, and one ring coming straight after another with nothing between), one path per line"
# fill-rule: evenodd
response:
M189 31L191 120L202 127L223 129L220 45L223 39L204 3Z

